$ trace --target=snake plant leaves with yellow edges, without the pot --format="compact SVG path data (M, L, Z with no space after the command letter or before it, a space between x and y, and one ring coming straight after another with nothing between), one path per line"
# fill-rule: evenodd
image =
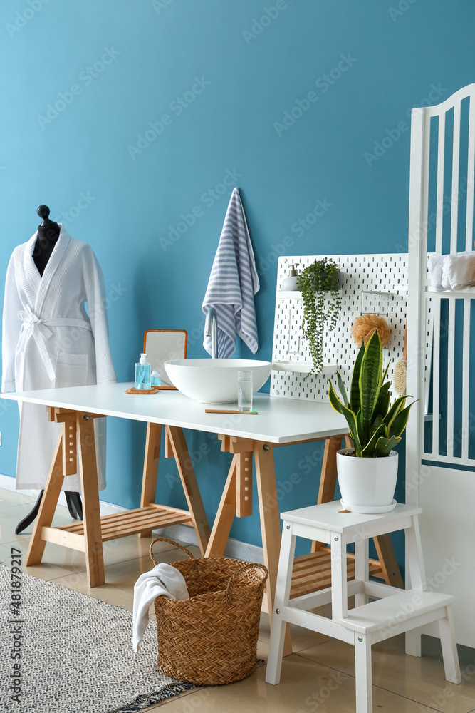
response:
M338 389L343 400L338 398L331 382L328 387L330 404L345 416L355 455L360 458L389 456L407 426L412 404L406 406L406 400L412 396L400 396L390 406L391 382L385 381L388 367L389 362L382 371L380 335L374 332L366 347L361 343L353 367L350 399L340 374L337 374Z

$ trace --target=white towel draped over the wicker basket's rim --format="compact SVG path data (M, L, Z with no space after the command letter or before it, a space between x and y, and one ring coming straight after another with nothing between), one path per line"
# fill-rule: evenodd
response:
M187 583L176 567L160 562L158 565L145 572L137 579L134 586L134 608L132 627L132 647L139 650L148 624L148 610L156 597L169 597L170 599L189 599Z

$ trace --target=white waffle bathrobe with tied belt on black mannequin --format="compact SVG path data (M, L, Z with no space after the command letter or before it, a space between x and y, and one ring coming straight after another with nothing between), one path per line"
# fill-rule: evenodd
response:
M103 273L92 248L60 235L41 277L33 261L38 233L16 247L6 274L2 391L30 391L115 381ZM87 312L85 309L87 304ZM46 406L20 404L16 488L43 488L59 424ZM105 488L105 419L95 421L99 488ZM79 491L78 473L63 490Z

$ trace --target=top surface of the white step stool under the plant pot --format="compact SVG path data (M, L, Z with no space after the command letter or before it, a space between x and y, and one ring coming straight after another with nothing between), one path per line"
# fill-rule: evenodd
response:
M398 520L407 516L419 515L419 513L422 513L422 508L403 505L402 503L397 503L397 506L390 513L382 513L380 515L347 513L344 511L340 501L335 500L331 503L321 503L320 505L311 505L307 508L281 513L281 519L288 520L291 523L310 525L322 530L330 530L331 532L350 533L355 528L360 530L365 523L372 523L375 520Z

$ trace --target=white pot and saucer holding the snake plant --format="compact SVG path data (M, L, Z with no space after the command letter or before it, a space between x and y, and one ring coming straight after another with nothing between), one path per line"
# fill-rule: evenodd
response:
M353 448L336 454L341 501L352 513L375 515L388 513L396 506L397 452L387 458L348 456Z

